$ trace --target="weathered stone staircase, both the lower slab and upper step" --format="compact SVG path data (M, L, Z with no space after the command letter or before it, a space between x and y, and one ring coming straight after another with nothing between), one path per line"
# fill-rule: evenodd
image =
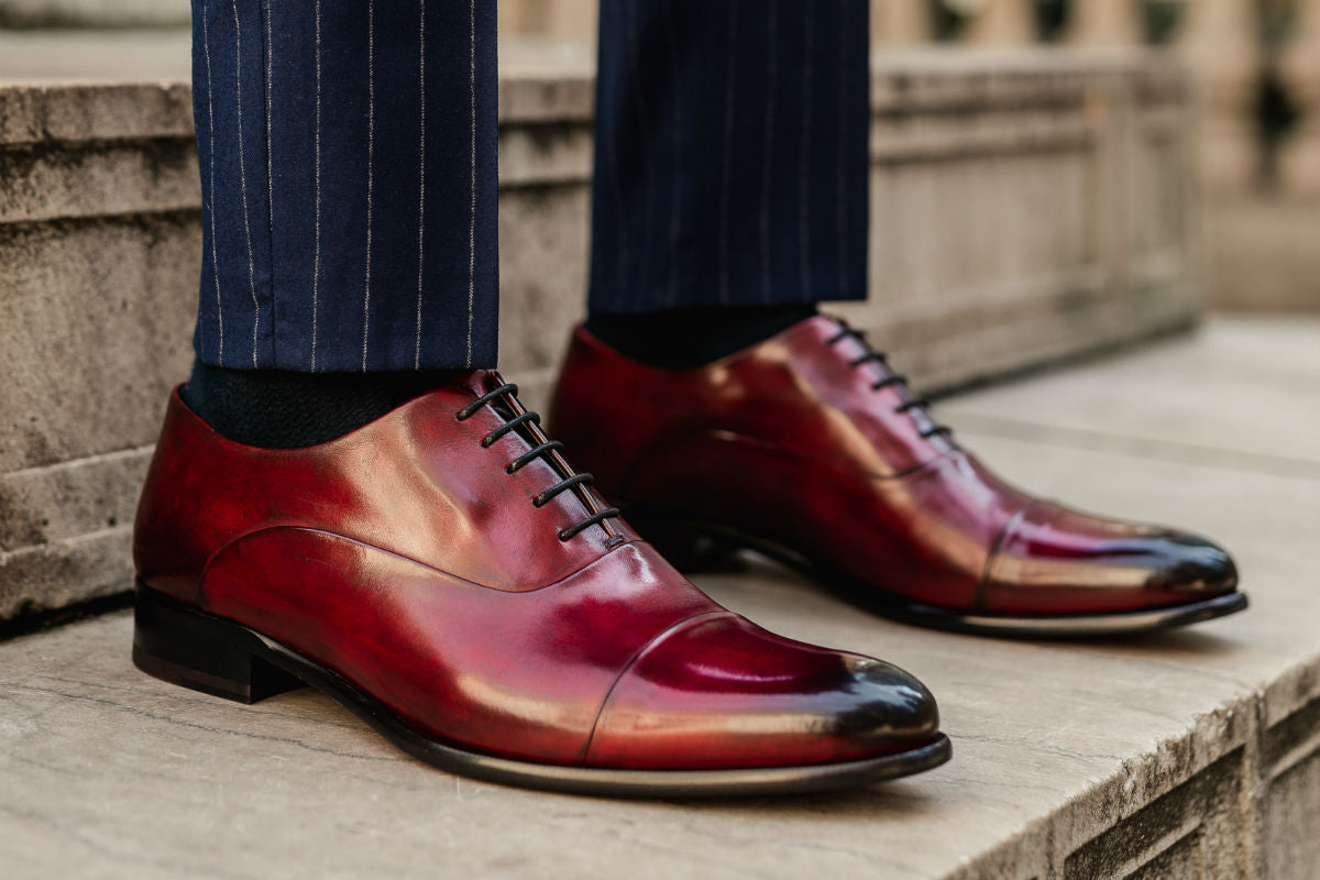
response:
M186 36L88 40L95 70L53 51L66 40L0 32L0 633L123 602L137 483L190 359ZM504 59L502 368L540 405L586 280L591 69L572 45ZM919 384L1196 321L1195 127L1168 59L890 54L873 111L871 299L840 311ZM1224 540L1247 615L999 643L861 615L763 562L701 579L917 673L956 743L935 773L700 806L502 789L309 693L240 707L161 685L111 612L0 644L0 876L1320 877L1316 352L1315 322L1214 322L942 405L1010 478Z

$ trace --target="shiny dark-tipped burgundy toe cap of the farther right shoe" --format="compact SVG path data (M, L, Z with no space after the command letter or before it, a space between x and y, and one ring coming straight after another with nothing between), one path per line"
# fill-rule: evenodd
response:
M982 610L1106 613L1233 592L1226 550L1204 538L1038 503L1006 529L987 569Z

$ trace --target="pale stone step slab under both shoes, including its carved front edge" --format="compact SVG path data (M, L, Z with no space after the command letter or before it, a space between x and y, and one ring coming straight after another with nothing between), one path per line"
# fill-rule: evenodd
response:
M956 748L925 776L705 805L483 785L310 693L243 707L156 682L114 615L0 645L4 876L1312 880L1317 389L1320 322L1236 319L940 406L1016 482L1226 542L1254 602L1236 617L1008 643L879 620L768 566L698 578L925 679Z

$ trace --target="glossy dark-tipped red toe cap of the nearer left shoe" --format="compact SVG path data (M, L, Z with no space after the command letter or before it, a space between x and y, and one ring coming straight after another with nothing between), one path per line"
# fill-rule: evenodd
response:
M586 761L632 769L851 761L932 741L931 691L879 660L704 615L671 629L619 677Z

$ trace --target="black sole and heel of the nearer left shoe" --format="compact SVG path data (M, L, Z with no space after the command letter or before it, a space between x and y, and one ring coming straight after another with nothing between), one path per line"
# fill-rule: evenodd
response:
M705 798L849 789L936 768L949 739L862 761L730 770L624 770L516 761L429 736L338 673L232 620L137 586L133 664L162 681L255 703L304 686L342 703L391 743L450 773L572 794Z

